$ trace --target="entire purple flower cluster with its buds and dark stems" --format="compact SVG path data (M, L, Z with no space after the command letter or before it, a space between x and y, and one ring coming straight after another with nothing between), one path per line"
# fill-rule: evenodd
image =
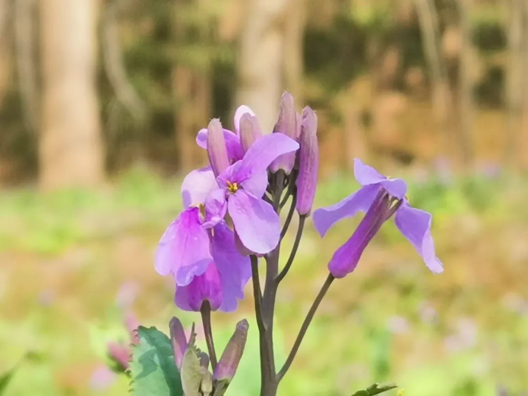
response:
M237 343L231 350L228 346L222 359L229 355L224 362L230 363L223 367L216 365L209 314L211 310L236 309L238 300L244 297L244 287L253 278L261 340L262 387L266 389L265 394L274 394L326 290L335 278L343 278L356 268L366 246L385 221L394 216L398 229L432 272L442 272L443 267L431 237L431 215L410 206L406 183L387 178L355 159L354 174L361 184L360 190L335 205L315 210L313 221L324 237L337 221L359 212L365 214L351 237L330 259L328 278L285 365L276 372L269 332L278 284L294 260L305 219L312 213L319 167L317 116L310 107L299 114L293 97L285 92L271 134L262 133L256 115L247 106L237 109L233 124L234 131L231 131L223 128L219 119L213 119L207 128L198 132L196 143L206 150L209 166L196 169L184 178L181 187L184 209L159 241L155 268L159 274L174 278L175 303L179 308L202 314L209 350L205 357L207 365L211 360L214 370L211 389L220 389L220 377L232 378L241 348L233 346ZM289 199L290 210L281 229L279 213ZM299 216L297 237L286 265L279 271L280 242L295 211ZM259 258L266 260L263 293L258 278ZM172 333L175 323L173 320ZM245 343L247 322L240 326L238 331L243 336L238 338L243 338ZM177 327L181 328L179 322ZM178 337L173 334L173 340L176 337L183 341L173 342L174 354L178 368L184 370L182 345L187 342L183 331L178 334ZM200 354L194 353L193 359L202 359ZM219 391L219 394L222 393Z

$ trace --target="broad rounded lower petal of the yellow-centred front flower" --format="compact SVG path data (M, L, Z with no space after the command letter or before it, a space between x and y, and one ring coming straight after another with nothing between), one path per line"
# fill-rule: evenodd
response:
M229 197L228 211L246 248L261 254L275 249L279 243L280 221L269 203L239 190Z

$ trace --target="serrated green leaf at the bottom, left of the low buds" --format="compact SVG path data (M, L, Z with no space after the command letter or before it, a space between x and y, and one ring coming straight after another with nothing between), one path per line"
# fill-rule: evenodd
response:
M155 327L139 326L130 373L133 393L139 396L183 396L180 372L169 338Z

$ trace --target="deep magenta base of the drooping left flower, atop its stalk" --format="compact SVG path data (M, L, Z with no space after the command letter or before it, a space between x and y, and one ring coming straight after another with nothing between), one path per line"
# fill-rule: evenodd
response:
M202 275L195 276L187 286L177 286L174 302L180 309L199 311L203 301L208 300L211 309L216 310L222 303L222 289L216 266L210 261Z

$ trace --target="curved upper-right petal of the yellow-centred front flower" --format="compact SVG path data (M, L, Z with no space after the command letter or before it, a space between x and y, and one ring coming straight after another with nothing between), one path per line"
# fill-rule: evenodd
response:
M291 153L299 148L299 144L284 134L271 134L258 139L242 158L239 168L240 181L265 171L278 156Z

